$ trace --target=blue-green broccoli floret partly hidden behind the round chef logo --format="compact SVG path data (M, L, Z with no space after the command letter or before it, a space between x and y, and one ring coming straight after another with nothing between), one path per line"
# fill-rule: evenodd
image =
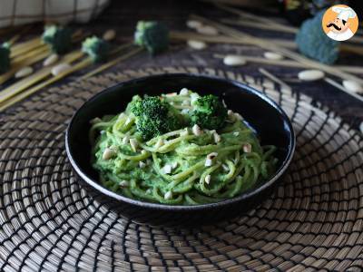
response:
M320 63L331 64L338 59L339 43L330 39L321 28L321 18L324 12L325 10L306 20L301 25L299 33L296 34L295 41L300 53Z

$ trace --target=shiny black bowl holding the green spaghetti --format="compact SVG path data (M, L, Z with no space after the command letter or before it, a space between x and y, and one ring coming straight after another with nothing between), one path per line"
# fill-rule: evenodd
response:
M188 88L201 94L213 93L224 99L229 109L240 112L257 132L263 145L278 147L278 170L266 182L233 199L199 206L168 206L128 199L104 188L90 163L87 141L90 120L105 114L123 112L136 93L158 95ZM74 114L66 131L65 146L74 173L83 187L109 209L137 222L152 224L201 224L233 217L256 207L269 197L287 170L295 149L295 135L288 116L261 92L247 85L217 77L194 74L162 74L119 83L97 93Z

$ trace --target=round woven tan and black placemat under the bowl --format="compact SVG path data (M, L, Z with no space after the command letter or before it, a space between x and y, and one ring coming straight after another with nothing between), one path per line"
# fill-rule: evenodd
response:
M138 225L79 187L64 130L73 112L106 86L185 72L217 74L266 92L293 121L296 155L276 193L239 219L192 229ZM124 71L45 90L0 118L0 270L360 271L362 148L362 135L318 102L237 73Z

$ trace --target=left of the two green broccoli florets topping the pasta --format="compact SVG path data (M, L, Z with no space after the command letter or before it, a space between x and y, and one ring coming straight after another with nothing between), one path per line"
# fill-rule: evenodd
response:
M182 128L182 118L167 102L149 96L132 101L132 113L136 116L136 129L143 140Z

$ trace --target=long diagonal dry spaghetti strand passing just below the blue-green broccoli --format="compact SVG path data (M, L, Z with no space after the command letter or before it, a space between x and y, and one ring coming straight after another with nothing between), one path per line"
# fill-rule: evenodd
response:
M229 34L231 37L234 37L236 39L239 40L250 40L250 43L256 44L257 46L260 46L261 48L264 48L266 50L269 51L274 51L277 53L281 53L286 57L289 57L290 59L293 59L295 61L297 61L298 63L302 63L304 65L306 65L309 68L314 68L314 69L319 69L322 70L326 73L330 73L333 74L335 76L338 76L340 78L346 79L346 80L353 80L353 81L357 81L358 83L363 84L363 79L358 78L357 76L350 74L350 73L346 73L336 67L331 67L329 65L323 64L323 63L318 63L316 61L310 60L304 56L302 56L299 53L295 53L293 51L290 51L289 49L283 48L281 46L279 46L278 44L274 44L273 42L266 42L260 38L251 36L249 34L244 34L243 32L236 30L234 28L231 28L227 25L224 24L220 24L217 23L215 21L211 21L207 18L198 16L198 15L192 15L191 18L194 18L196 20L199 20L201 22L203 22L204 24L210 24L214 27L216 27L221 33L223 34Z

